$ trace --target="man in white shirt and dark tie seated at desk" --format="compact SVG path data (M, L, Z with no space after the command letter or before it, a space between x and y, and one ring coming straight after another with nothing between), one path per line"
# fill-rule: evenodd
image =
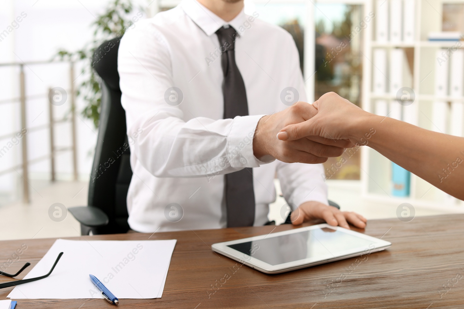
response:
M264 225L276 174L294 224L365 226L360 215L328 206L322 177L320 163L349 142L276 138L316 111L288 108L306 100L298 52L288 32L258 15L245 15L243 0L183 0L122 38L133 230Z

